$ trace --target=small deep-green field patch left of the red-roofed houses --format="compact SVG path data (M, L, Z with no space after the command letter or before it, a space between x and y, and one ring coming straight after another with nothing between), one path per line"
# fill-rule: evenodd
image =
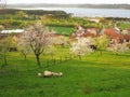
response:
M61 27L61 26L50 26L50 30L56 31L56 33L69 36L73 33L74 27Z

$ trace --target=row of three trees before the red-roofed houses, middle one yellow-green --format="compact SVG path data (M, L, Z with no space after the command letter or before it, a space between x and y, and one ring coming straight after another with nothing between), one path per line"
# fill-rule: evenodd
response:
M93 45L96 48L93 48L90 45ZM81 59L81 56L90 54L95 50L99 51L101 55L103 51L109 51L115 54L120 54L130 50L130 42L116 43L110 45L110 39L106 34L103 34L94 39L78 38L78 40L74 42L70 47L72 54L78 56L79 59Z

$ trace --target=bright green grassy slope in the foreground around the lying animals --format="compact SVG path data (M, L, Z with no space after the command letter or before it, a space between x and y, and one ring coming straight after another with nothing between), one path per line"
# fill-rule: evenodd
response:
M58 56L68 55L60 48ZM47 65L50 59L50 65ZM27 64L18 53L9 55L9 66L0 70L0 97L129 97L130 52L115 55L94 52L82 57L52 65L50 56L41 56L42 69L38 69L35 57ZM47 67L48 66L48 67ZM43 70L62 71L62 78L38 78Z

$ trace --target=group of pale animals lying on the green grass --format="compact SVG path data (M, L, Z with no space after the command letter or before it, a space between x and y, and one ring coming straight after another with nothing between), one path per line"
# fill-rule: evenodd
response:
M46 70L43 73L38 73L38 77L44 77L44 78L50 78L50 77L62 77L63 73L62 72L52 72L52 71L48 71Z

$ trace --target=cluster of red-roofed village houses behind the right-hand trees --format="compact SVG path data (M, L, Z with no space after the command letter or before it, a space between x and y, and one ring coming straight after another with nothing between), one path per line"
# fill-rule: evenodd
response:
M70 36L70 39L75 38L87 38L87 37L100 37L106 34L110 39L110 43L123 43L130 41L130 28L120 30L118 27L115 28L102 28L100 31L98 28L82 28L81 26L76 27L76 31Z

